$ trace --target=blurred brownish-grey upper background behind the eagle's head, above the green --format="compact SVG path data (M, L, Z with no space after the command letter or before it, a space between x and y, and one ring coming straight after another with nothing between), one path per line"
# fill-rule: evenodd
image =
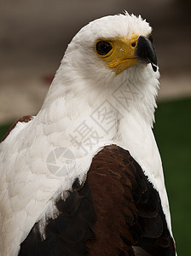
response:
M153 26L159 100L191 95L186 0L0 0L0 124L36 114L67 44L90 20L126 9Z

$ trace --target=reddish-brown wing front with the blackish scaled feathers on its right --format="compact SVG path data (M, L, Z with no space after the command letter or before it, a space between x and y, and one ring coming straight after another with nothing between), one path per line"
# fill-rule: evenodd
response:
M142 255L138 247L150 255L175 255L159 194L127 150L103 148L88 182L97 217L96 240L87 242L90 255L134 255L135 246L136 255Z

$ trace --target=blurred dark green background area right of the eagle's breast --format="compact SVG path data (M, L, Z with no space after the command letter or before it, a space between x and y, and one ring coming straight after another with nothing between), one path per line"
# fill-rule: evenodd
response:
M191 98L160 102L154 134L165 172L178 255L191 255Z

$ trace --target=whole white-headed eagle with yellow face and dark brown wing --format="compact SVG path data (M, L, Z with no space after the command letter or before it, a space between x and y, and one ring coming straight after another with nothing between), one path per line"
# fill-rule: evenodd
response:
M0 255L177 255L153 136L152 28L127 12L72 38L36 116L0 144Z

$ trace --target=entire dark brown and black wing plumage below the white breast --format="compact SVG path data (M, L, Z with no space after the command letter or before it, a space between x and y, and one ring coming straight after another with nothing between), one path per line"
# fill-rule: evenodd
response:
M35 224L23 256L175 256L159 194L130 153L116 145L92 160L86 181L73 183L42 241Z

